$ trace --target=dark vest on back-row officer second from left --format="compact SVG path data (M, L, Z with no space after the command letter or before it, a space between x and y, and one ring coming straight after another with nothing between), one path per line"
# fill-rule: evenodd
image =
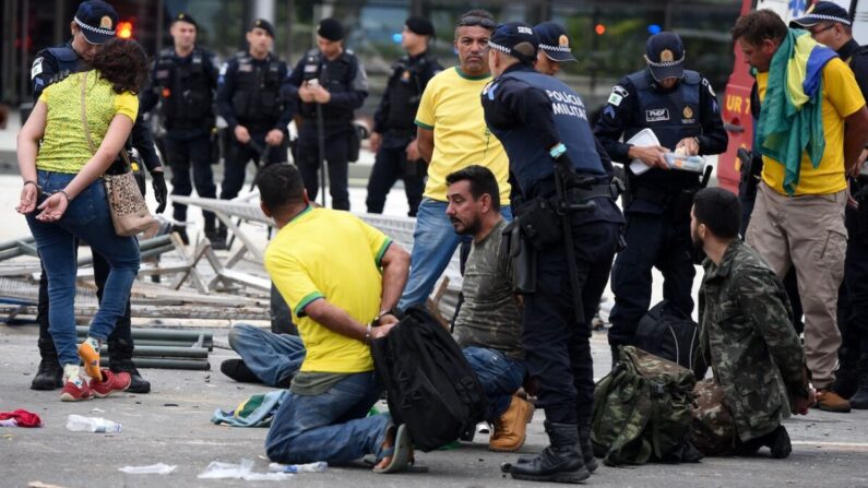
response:
M257 62L247 52L236 55L233 110L242 124L272 126L281 118L281 63L271 53Z

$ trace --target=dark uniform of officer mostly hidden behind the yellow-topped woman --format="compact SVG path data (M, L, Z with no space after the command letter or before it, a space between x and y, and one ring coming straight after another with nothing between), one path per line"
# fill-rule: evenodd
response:
M88 67L72 49L72 41L40 50L36 53L31 71L34 100L37 100L43 90L50 84L64 79L71 73L78 73L86 69ZM160 168L159 157L154 147L154 139L142 119L141 111L135 119L130 136L133 147L139 152L142 163L148 171L153 172L155 169ZM96 252L93 253L93 261L94 281L97 286L96 293L97 297L102 298L110 266L108 261ZM39 277L39 301L36 314L36 321L39 323L39 355L43 357L43 361L53 360L57 362L57 349L51 334L48 332L48 278L45 270L43 270L43 274ZM147 393L151 390L151 385L139 376L132 362L133 338L130 325L130 302L128 300L123 317L118 321L115 330L106 341L111 370L115 372L127 371L131 374L134 373L130 390L138 393Z

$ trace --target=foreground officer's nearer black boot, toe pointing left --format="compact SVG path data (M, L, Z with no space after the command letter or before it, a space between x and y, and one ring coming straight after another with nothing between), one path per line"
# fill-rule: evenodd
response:
M579 427L575 424L545 421L551 445L527 463L515 463L510 474L515 479L530 481L554 481L579 484L591 477L591 473L576 450Z

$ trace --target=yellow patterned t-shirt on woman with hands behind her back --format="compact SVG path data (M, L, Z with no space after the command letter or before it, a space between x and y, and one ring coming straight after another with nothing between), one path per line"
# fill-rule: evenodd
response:
M82 122L81 83L84 74L71 74L46 87L39 95L39 102L46 104L48 114L43 144L36 156L38 169L75 174L93 156ZM115 93L111 84L100 79L96 71L87 72L85 97L94 151L99 147L116 115L127 116L134 121L139 112L139 98L135 95L130 92Z

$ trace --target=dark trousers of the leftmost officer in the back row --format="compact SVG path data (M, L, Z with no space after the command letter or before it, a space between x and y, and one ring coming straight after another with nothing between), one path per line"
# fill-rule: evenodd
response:
M171 168L171 194L188 197L195 192L201 198L213 199L217 195L214 185L214 171L211 168L211 138L207 133L191 138L176 138L169 133L165 141L166 160ZM193 179L190 181L190 170ZM173 217L178 222L187 221L187 205L173 203ZM202 212L205 216L205 228L214 228L214 214Z

